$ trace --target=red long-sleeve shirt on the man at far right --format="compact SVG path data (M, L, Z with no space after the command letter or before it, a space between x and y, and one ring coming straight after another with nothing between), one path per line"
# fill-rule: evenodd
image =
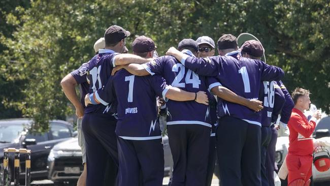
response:
M303 112L293 108L287 126L290 130L289 153L298 156L311 155L314 150L312 134L316 127L315 121L308 122Z

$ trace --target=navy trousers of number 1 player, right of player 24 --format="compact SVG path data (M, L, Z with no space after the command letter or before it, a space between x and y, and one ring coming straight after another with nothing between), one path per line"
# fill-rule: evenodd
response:
M222 117L216 132L221 185L261 185L261 127L235 117Z

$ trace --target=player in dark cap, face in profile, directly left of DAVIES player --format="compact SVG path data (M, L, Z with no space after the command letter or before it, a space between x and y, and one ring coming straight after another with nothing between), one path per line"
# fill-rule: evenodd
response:
M82 130L85 136L87 153L86 185L102 185L106 175L107 158L110 154L118 167L116 128L117 101L113 90L105 86L111 82L111 71L125 61L145 63L148 59L133 54L119 54L126 50L125 38L130 33L120 26L107 28L105 49L90 59L88 66L89 94L85 97Z

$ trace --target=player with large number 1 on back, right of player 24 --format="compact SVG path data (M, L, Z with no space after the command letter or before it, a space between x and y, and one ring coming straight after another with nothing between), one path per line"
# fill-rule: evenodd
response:
M234 44L232 47L237 47L237 42ZM278 80L284 76L282 69L260 60L244 57L237 60L238 52L196 58L171 47L167 54L175 56L186 68L198 74L216 76L222 86L247 99L258 98L261 81ZM217 154L222 185L261 185L260 114L225 100L218 100L217 112Z

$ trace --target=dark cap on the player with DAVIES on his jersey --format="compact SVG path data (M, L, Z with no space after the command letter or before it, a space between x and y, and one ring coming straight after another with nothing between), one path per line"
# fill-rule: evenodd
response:
M151 38L145 36L137 37L132 43L133 52L144 53L155 50L155 43Z

